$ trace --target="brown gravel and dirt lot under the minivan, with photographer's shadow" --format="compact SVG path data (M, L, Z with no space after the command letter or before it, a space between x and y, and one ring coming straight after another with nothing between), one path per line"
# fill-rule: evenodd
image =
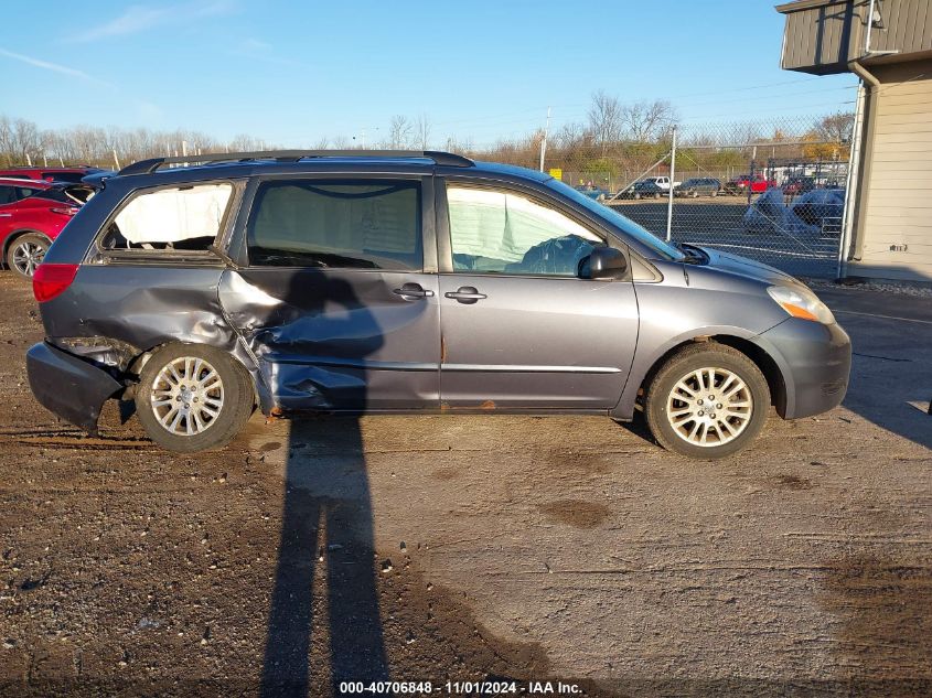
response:
M92 439L33 401L41 325L2 272L0 691L930 695L932 310L819 292L855 342L845 405L731 460L505 416L259 416L176 457L115 405Z

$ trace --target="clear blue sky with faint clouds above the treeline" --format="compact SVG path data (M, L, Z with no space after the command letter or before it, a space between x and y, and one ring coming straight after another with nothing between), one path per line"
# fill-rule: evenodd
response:
M394 115L483 144L547 106L555 127L582 121L598 89L686 124L851 108L853 76L780 69L782 29L768 0L14 2L0 114L302 147L378 140Z

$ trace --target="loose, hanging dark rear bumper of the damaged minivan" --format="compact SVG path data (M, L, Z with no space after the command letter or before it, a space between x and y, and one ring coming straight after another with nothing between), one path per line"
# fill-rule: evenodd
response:
M85 431L97 431L104 402L122 389L106 371L40 342L25 355L29 385L51 412Z

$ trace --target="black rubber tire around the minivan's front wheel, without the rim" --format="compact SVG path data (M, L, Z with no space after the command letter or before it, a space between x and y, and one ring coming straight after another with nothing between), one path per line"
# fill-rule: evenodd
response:
M674 388L681 380L690 379L693 372L701 369L733 374L743 382L747 391L750 393L750 416L743 421L743 428L739 429L737 436L727 434L730 440L720 445L699 445L690 442L687 437L681 436L667 419L667 405L675 404L669 401ZM713 390L717 390L717 388L713 388ZM747 395L747 393L741 393L741 395ZM697 401L701 399L697 396ZM721 399L721 397L717 395L716 399ZM740 399L743 400L744 398ZM685 404L681 402L681 405ZM721 409L721 404L718 404L717 407ZM695 406L695 408L700 409L698 406ZM684 409L684 412L688 409L688 407ZM663 448L701 460L727 458L747 448L760 433L769 411L770 388L757 365L738 350L715 342L692 344L671 356L651 382L644 404L647 427ZM703 412L698 414L701 415ZM688 420L690 417L687 415L684 419ZM708 416L704 419L710 421ZM684 429L692 431L692 425L699 421L701 421L699 418L694 421L686 421ZM741 421L739 420L737 423L741 423ZM724 429L720 431L719 429L715 428L716 441L720 439L719 434L725 433ZM707 427L703 433L711 432L713 430Z

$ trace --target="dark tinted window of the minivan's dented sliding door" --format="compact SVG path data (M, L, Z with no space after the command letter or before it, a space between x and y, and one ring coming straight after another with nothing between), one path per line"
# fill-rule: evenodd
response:
M417 182L265 182L249 217L249 261L274 267L420 270L419 212Z

